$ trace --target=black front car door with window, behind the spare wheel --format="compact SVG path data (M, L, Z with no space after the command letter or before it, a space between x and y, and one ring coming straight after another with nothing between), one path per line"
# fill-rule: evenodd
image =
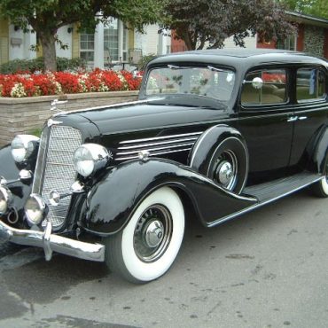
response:
M246 139L249 173L264 180L285 174L293 140L289 70L266 67L246 74L238 110L238 129Z

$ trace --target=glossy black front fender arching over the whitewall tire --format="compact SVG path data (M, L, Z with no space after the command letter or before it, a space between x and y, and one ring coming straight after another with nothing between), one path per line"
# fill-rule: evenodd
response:
M184 191L200 222L206 226L257 202L257 199L226 191L206 176L177 162L131 160L110 170L90 191L82 227L103 236L121 230L138 204L164 185Z

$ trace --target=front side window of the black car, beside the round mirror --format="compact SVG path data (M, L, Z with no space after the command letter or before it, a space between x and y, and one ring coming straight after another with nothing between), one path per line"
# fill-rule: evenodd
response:
M268 69L246 74L241 103L243 105L281 104L287 101L285 69Z

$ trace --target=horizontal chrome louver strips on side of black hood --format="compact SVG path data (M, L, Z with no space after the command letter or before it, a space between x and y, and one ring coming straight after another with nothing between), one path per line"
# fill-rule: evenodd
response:
M121 141L115 160L137 159L140 151L149 152L150 156L190 151L201 134L202 132L193 132L164 137L149 137Z

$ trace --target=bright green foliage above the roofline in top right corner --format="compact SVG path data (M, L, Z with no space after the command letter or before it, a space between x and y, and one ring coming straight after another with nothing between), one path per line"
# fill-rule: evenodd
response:
M327 0L280 0L287 9L328 19Z

